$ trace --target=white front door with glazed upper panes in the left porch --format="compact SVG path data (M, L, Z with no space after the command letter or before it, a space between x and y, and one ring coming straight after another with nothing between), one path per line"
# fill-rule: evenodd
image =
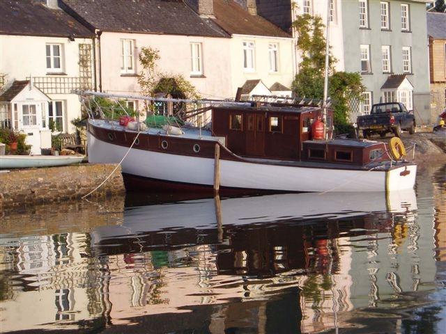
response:
M40 104L22 104L22 132L26 134L26 145L31 145L31 154L41 154L40 123L42 108Z

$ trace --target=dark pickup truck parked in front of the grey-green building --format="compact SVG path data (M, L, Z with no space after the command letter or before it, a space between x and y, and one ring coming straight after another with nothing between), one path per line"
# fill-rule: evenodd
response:
M371 134L385 137L387 132L393 132L399 137L401 130L415 134L415 117L402 103L378 103L371 106L370 115L357 117L357 126L362 130L364 138L369 138Z

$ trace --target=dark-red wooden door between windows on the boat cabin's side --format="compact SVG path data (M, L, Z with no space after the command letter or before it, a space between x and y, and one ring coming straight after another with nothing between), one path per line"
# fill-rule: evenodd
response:
M246 154L265 155L265 117L262 114L248 113L246 116Z

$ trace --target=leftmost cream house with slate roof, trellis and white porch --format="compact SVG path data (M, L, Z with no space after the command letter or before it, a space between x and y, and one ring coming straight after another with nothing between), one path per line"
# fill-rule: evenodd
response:
M93 34L58 8L57 1L44 3L0 1L4 88L14 84L12 88L19 89L24 80L32 81L31 91L21 90L15 100L7 101L9 105L0 107L0 118L3 126L30 134L28 141L35 154L51 145L49 129L74 130L70 121L80 116L80 102L71 90L93 86ZM37 95L41 98L31 100Z

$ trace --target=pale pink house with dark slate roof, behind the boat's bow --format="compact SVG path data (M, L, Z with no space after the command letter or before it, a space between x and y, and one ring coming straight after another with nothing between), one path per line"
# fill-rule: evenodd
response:
M141 93L139 54L151 47L159 51L157 72L181 74L203 98L230 97L229 35L186 2L63 0L61 6L95 32L100 91Z

